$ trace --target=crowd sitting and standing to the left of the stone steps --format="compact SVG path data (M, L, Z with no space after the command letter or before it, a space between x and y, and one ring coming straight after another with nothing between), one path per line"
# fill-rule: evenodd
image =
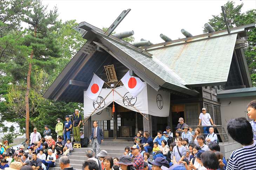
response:
M74 130L74 142L80 143L81 139L84 138L83 132L80 131L82 116L79 115L78 109L75 109L72 117L70 119L70 116L66 115L64 124L60 118L56 120L56 140L52 138L52 130L48 125L45 125L42 135L34 127L30 139L26 139L25 143L17 150L10 149L8 141L4 141L4 145L0 142L0 169L10 170L12 164L18 167L29 165L33 170L48 170L50 167L55 167L55 161L59 155L70 155L70 152L73 151L70 138L72 128Z

